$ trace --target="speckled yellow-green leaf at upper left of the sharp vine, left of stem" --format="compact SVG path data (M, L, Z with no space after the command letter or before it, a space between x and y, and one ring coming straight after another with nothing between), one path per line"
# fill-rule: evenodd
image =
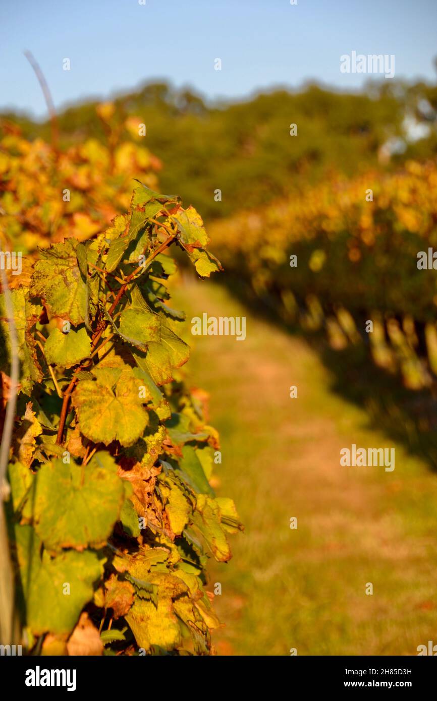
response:
M66 238L41 250L34 265L31 294L41 297L52 314L66 319L74 326L83 323L87 315L87 289L76 257L77 242Z

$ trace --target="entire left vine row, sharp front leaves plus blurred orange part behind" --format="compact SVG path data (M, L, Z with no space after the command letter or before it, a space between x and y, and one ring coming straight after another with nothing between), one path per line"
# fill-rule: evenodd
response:
M87 142L62 154L17 133L2 142L2 233L27 252L9 275L20 394L7 515L20 615L29 651L206 655L220 625L208 553L229 561L242 526L210 486L220 445L205 394L182 381L189 347L183 313L167 304L168 248L203 277L220 264L196 210L145 184L108 226L139 165L134 149L119 170L119 149Z

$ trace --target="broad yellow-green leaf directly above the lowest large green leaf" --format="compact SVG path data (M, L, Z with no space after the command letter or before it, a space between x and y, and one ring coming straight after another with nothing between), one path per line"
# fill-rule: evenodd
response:
M44 463L36 474L36 533L49 550L102 547L123 500L123 482L108 453L96 453L86 466Z

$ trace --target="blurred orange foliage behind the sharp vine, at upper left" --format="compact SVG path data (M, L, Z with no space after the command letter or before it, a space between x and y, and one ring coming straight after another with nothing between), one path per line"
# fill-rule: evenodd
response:
M88 240L128 209L134 177L156 187L159 159L121 140L110 111L100 106L95 114L104 142L81 139L63 151L41 139L29 142L15 123L1 123L1 231L14 250L32 252L67 237Z

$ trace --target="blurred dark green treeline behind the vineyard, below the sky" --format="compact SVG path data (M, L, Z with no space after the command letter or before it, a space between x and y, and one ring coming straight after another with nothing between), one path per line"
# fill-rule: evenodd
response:
M424 83L369 83L361 94L309 85L212 105L190 90L153 83L111 104L119 138L156 154L164 166L163 190L180 191L207 219L287 196L297 184L391 170L437 152L437 88ZM95 107L86 102L59 114L63 147L105 141ZM48 122L4 116L28 139L51 137ZM140 124L145 136L138 135ZM290 135L293 124L297 136Z

